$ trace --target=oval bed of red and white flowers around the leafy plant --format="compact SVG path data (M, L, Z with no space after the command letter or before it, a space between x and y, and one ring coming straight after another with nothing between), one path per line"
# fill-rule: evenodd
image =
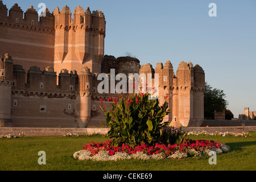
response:
M122 147L113 147L112 140L104 143L86 144L82 150L75 152L73 158L78 160L127 160L127 159L182 159L187 157L200 157L208 155L210 151L216 154L222 154L230 151L230 147L226 144L217 143L208 140L192 140L187 139L182 144L158 144L149 146L141 144L141 146L130 147L123 144Z

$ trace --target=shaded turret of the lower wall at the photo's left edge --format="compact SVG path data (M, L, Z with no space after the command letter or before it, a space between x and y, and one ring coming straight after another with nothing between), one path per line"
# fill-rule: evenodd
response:
M11 127L11 86L13 85L13 60L8 53L0 56L0 126Z

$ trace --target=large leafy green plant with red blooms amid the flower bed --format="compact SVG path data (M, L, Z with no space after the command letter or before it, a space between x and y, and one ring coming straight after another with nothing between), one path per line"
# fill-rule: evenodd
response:
M158 142L162 128L168 123L163 122L169 111L167 100L160 106L158 98L150 100L150 93L121 97L118 100L109 98L109 101L112 100L112 109L107 110L102 105L101 109L104 110L106 123L110 127L107 136L113 139L115 146L122 146L123 143L136 146Z

